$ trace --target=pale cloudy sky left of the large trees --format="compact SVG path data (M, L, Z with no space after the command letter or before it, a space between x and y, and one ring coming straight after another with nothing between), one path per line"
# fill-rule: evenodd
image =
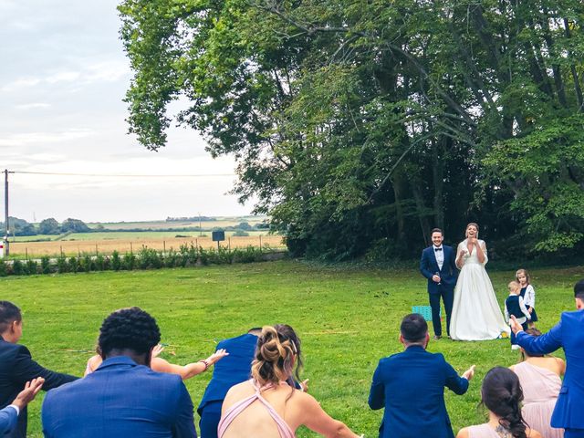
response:
M131 72L118 37L118 3L0 1L0 169L16 171L9 176L10 214L101 222L248 214L252 205L225 194L235 163L212 159L193 130L172 128L159 152L127 134L121 99Z

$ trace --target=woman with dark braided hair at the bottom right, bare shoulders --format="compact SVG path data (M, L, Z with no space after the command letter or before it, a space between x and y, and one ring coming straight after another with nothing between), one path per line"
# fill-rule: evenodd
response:
M508 368L489 370L481 397L489 410L485 424L464 427L456 438L542 438L541 433L530 429L521 415L523 391L516 373Z

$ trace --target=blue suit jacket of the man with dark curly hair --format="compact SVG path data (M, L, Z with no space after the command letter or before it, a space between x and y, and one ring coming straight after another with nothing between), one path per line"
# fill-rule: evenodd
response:
M127 356L104 360L85 378L48 391L46 438L193 438L193 402L181 377Z

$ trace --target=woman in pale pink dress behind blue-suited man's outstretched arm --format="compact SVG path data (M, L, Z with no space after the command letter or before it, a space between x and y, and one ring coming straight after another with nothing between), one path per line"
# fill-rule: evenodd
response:
M529 328L526 332L531 336L541 336L537 328ZM524 360L509 368L516 373L523 388L523 418L546 438L562 438L564 430L551 427L549 422L562 386L561 376L566 371L566 362L552 356L529 356L525 349L521 349L521 355Z

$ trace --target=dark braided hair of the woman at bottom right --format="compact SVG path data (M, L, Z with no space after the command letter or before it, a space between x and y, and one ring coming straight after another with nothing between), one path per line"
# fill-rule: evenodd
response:
M499 418L514 438L527 438L527 423L521 415L523 390L516 373L508 368L495 367L485 375L481 388L483 403Z

